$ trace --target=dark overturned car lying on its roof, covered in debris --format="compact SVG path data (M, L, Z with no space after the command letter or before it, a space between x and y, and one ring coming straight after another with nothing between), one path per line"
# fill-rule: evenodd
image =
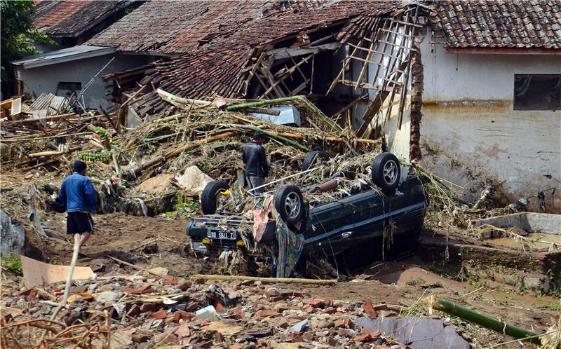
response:
M301 173L327 158L320 151L309 153ZM304 273L304 264L296 266L297 261L331 261L350 272L406 254L416 245L427 205L419 178L408 168L402 174L396 156L380 153L370 165L370 178L336 170L316 184L302 181L278 187L272 197L261 194L250 209L235 200L226 205L232 201L231 188L211 182L201 196L205 215L187 227L191 249L206 256L236 252L266 260L278 277L288 276L295 267ZM342 191L342 196L314 196L349 179L360 185Z

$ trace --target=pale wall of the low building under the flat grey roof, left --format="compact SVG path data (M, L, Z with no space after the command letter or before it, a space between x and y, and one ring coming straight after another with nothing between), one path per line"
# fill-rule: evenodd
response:
M88 81L90 81L90 79L97 74L97 71L102 69L114 55L115 60L102 71L102 74L97 76L83 95L86 107L88 108L97 108L100 105L109 107L111 105L111 102L109 102L111 96L105 95L105 93L108 92L108 90L105 89L107 83L102 80L102 76L134 67L140 67L147 62L145 56L111 54L30 69L22 69L19 67L18 78L23 81L24 93L29 96L39 96L41 93L57 93L57 85L59 82L79 82L82 88L85 88Z

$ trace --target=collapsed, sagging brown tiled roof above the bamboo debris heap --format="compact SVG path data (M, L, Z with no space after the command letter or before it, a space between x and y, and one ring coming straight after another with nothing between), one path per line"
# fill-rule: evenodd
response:
M159 84L163 90L182 97L201 98L214 94L239 97L245 88L247 75L243 69L255 54L256 46L305 32L306 29L343 23L364 11L372 11L373 6L391 11L395 3L331 1L309 11L269 11L262 18L238 26L228 35L217 36L204 46L191 47L184 55L154 63L154 69L147 71L147 77L141 83ZM93 42L99 44L98 41ZM140 104L148 104L158 110L163 102L155 93L149 93Z

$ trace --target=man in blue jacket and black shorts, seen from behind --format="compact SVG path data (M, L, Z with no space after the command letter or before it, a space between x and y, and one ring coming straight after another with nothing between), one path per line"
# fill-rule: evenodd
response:
M58 199L67 207L67 233L80 234L80 248L93 233L91 213L97 211L97 200L92 181L86 177L86 163L77 160L74 173L65 178ZM85 256L81 253L80 256Z

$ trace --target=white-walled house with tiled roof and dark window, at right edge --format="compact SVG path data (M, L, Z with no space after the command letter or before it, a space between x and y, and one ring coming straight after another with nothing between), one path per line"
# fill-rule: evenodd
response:
M421 43L423 163L561 212L561 4L442 1Z

